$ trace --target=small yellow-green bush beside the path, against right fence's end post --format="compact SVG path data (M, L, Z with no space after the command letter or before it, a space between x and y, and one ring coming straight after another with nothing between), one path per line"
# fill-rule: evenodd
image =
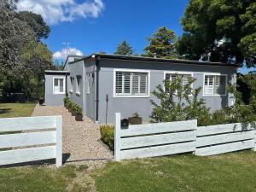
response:
M101 139L103 143L106 143L108 147L113 150L114 146L114 126L113 125L101 125Z

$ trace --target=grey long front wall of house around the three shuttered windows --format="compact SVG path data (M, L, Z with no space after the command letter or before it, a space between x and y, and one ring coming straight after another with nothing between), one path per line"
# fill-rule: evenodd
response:
M132 113L139 113L143 117L143 121L149 120L149 115L152 112L150 100L156 100L151 94L158 84L163 84L165 72L190 72L196 79L193 88L203 87L204 73L223 73L227 74L227 81L229 84L236 83L236 68L235 67L213 67L201 66L193 64L181 63L160 63L145 61L120 61L120 60L107 60L100 61L100 76L99 76L99 122L107 123L114 122L114 113L119 112L122 118L131 117ZM139 69L150 71L150 94L148 97L114 97L114 69ZM108 103L106 100L108 96ZM234 96L227 94L226 96L203 96L202 90L200 98L203 98L207 107L211 110L224 108L234 102ZM107 107L108 106L108 107Z

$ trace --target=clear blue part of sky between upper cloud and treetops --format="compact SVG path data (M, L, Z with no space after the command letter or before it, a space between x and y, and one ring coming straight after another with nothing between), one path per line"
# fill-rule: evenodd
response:
M98 18L80 18L51 26L52 32L45 41L55 52L63 42L80 49L84 55L105 51L113 53L117 44L128 41L138 54L148 44L149 37L160 26L168 26L182 33L180 19L187 0L105 0Z

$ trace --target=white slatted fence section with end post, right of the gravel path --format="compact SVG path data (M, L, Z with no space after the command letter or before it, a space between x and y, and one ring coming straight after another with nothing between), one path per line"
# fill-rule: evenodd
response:
M196 120L130 125L121 129L120 113L115 115L115 160L195 151Z

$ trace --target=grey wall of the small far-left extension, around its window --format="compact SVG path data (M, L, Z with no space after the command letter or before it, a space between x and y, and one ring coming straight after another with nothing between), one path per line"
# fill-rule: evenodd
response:
M57 75L57 74L45 74L45 105L53 105L53 106L59 106L63 105L63 98L65 97L65 94L54 94L53 91L53 79L54 77L63 77L66 76L63 74Z

